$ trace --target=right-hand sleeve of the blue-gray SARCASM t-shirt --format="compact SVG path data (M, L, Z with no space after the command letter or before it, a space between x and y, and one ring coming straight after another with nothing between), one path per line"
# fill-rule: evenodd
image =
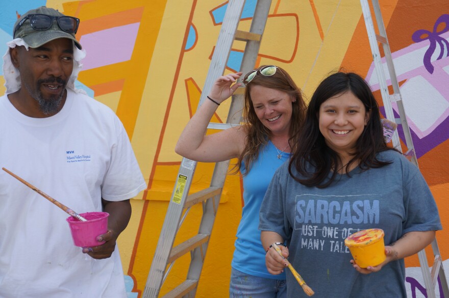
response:
M406 211L404 233L441 230L438 209L426 180L418 168L407 159L402 160L402 166Z

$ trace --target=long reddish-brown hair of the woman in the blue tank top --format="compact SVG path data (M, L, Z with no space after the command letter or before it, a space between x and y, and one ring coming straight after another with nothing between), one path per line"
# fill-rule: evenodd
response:
M265 66L265 65L264 65ZM263 68L261 66L257 69ZM245 171L243 174L248 173L251 168L251 164L257 159L260 148L267 144L271 138L271 131L266 128L259 118L257 118L254 111L253 100L251 99L251 88L253 86L263 86L270 89L276 89L287 93L293 98L292 114L290 121L290 139L289 144L293 152L294 147L299 136L299 132L302 129L306 104L304 103L301 89L296 86L291 76L281 67L277 67L276 73L271 76L265 76L258 72L250 83L246 84L245 89L245 105L243 107L243 119L244 128L247 131L246 145L242 153L238 157L236 164L236 172L241 170L241 162L244 161Z

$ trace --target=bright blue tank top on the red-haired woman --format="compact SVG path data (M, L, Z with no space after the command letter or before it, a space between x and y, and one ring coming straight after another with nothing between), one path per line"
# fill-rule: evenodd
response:
M285 279L285 272L280 275L268 273L265 266L265 249L260 241L259 210L268 184L276 170L289 160L290 153L281 153L278 158L278 150L275 145L268 143L261 148L258 158L253 162L250 172L243 176L243 200L242 219L237 229L234 257L232 267L248 275ZM241 171L244 173L244 163Z

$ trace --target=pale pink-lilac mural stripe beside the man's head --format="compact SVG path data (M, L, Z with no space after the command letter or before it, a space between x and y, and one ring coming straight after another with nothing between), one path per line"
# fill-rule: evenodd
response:
M87 52L83 70L102 67L131 59L140 23L97 31L81 37ZM99 47L98 44L102 46Z

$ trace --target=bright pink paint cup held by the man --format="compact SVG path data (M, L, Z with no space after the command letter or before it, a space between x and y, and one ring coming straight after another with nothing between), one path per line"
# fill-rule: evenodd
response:
M109 213L86 212L80 215L87 221L81 222L72 216L66 219L72 234L73 244L79 247L94 247L105 243L105 241L98 242L96 237L108 231Z

